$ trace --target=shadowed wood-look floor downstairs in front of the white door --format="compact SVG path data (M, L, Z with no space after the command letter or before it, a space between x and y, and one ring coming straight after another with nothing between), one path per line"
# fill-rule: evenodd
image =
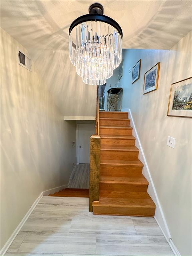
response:
M75 166L68 188L89 188L89 164L77 164Z

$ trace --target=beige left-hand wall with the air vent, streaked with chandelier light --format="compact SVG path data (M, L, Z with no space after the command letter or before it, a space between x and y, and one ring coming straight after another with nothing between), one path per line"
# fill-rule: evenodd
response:
M33 65L17 64L1 30L1 248L44 190L67 184L76 164L75 121L64 121Z

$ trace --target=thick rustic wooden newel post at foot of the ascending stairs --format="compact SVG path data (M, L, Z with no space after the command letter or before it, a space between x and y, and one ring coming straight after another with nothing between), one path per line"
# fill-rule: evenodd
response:
M89 212L93 212L93 201L99 201L100 147L100 136L92 135L90 138Z

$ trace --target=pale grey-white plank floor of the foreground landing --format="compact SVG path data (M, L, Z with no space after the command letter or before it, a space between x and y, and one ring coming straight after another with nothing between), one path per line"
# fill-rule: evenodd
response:
M174 255L154 218L94 216L88 205L44 196L5 255Z

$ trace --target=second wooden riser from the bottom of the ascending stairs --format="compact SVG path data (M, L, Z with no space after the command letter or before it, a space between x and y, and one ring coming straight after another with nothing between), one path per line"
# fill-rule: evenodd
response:
M115 191L116 193L122 193L122 197L124 193L128 196L128 192L147 192L148 185L135 185L135 184L113 184L113 183L100 183L99 191L100 196L102 193ZM110 196L112 197L112 196ZM121 196L120 196L121 197Z

